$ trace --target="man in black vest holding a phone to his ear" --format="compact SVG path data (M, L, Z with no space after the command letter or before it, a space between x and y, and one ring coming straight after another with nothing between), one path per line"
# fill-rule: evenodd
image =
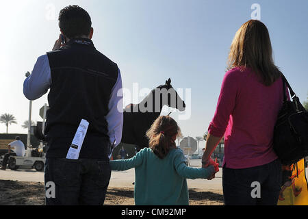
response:
M95 49L86 10L61 10L61 35L53 51L38 57L23 92L34 100L48 94L47 205L103 205L110 181L111 144L123 128L122 79L118 66ZM66 159L81 120L89 123L78 159ZM54 188L53 188L54 186ZM54 189L54 191L53 191Z

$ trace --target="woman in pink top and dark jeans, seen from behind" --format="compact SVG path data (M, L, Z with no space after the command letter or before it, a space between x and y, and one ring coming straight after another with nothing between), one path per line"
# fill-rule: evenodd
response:
M272 147L283 104L281 72L274 65L268 29L247 21L238 29L209 134L203 167L224 136L225 205L277 205L281 163Z

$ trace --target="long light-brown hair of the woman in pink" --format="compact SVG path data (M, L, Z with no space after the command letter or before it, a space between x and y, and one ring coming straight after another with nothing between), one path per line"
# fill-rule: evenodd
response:
M281 76L272 58L272 44L268 29L261 21L247 21L233 38L227 69L240 66L252 68L265 86L272 85Z

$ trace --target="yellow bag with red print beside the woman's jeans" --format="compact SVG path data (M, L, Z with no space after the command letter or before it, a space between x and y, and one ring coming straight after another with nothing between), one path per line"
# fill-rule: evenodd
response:
M289 177L283 177L283 185L278 205L308 205L308 185L305 174L305 160L301 159L291 166L283 166L283 174L292 171Z

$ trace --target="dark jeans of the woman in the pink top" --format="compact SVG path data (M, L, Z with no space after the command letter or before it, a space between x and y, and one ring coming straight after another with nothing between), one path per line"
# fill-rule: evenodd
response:
M279 159L244 169L222 168L224 205L277 205L281 190Z

